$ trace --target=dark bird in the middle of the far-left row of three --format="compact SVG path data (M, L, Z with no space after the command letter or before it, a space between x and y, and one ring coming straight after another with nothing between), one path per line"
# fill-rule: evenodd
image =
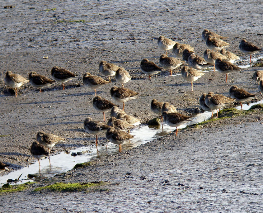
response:
M55 82L44 75L37 74L36 72L31 72L28 75L29 83L36 88L39 88L39 92L41 93L41 88L45 86L49 86Z

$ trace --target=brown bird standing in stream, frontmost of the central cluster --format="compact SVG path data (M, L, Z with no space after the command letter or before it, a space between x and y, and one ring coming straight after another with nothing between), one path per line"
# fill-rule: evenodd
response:
M130 140L134 135L123 130L115 130L114 127L109 127L106 132L106 138L113 144L119 144L119 152L121 152L121 144L124 144L125 141Z

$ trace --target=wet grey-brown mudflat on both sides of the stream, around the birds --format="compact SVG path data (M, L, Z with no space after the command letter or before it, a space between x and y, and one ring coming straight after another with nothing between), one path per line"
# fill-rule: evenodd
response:
M14 7L4 8L7 5ZM0 137L0 161L11 163L14 169L35 162L29 150L39 130L66 138L52 153L94 144L94 136L82 129L83 121L88 116L103 117L92 107L94 92L81 82L86 71L101 76L98 64L102 59L131 74L125 87L140 92L140 98L127 102L125 111L142 118L143 123L155 117L149 107L153 98L171 102L186 114L199 111L202 93L228 95L233 84L257 93L251 77L262 68L231 73L228 83L222 74L208 72L191 92L190 83L180 75L169 77L166 70L148 79L139 64L143 58L158 64L163 54L157 47L159 35L190 44L202 55L204 28L227 36L228 50L242 59L237 64L248 64L249 56L238 50L238 44L246 38L262 46L262 2L250 1L248 7L247 1L4 1L0 19L0 135L5 135ZM253 55L260 56L262 52ZM30 84L19 89L17 98L8 92L3 80L7 70L24 77L31 71L51 77L55 65L78 74L65 84L64 91L55 83L41 94ZM115 85L120 86L113 80L98 94L111 100L109 90ZM262 135L262 114L183 130L176 138L167 135L45 183L120 183L108 186L109 192L28 190L2 195L0 211L259 212L263 188L262 139L258 135ZM100 143L104 140L100 135ZM125 178L127 172L132 178Z

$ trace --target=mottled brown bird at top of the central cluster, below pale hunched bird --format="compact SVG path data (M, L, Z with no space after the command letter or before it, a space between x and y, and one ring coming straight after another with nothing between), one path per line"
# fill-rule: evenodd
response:
M124 102L138 98L138 92L134 92L133 90L130 90L128 88L117 88L112 87L110 89L110 96L115 100L116 102L123 103L122 110L124 111Z

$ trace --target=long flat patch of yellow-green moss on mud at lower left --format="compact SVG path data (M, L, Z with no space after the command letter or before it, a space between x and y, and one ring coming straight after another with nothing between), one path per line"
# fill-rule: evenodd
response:
M39 192L42 190L50 190L55 192L78 192L78 191L97 191L99 188L106 183L103 181L100 182L91 182L91 183L54 183L49 186L39 187L34 190L34 192ZM103 190L105 191L105 189Z

